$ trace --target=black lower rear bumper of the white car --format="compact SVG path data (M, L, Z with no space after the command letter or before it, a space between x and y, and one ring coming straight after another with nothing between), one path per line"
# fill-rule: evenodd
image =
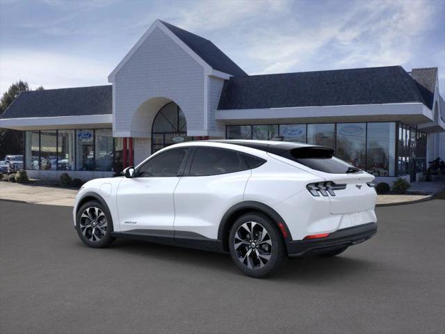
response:
M366 223L343 228L323 239L296 240L286 244L289 257L317 255L327 250L353 246L366 241L377 233L377 223Z

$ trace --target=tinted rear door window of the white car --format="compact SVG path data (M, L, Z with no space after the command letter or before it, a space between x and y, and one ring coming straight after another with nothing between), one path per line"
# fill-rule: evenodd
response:
M218 148L197 148L188 175L219 175L245 169L248 168L238 152Z

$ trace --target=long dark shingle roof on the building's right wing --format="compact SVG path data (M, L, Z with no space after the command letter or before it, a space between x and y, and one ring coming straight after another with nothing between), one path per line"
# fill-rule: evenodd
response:
M218 109L340 106L421 102L416 82L401 66L232 77Z

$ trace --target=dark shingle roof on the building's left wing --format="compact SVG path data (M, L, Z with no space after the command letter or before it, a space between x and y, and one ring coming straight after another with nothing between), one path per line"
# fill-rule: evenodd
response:
M111 85L21 93L0 118L104 115L112 111Z

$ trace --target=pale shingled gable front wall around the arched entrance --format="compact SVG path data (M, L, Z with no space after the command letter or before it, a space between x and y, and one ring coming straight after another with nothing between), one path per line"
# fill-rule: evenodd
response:
M133 117L138 107L153 97L177 103L186 116L188 132L206 135L204 68L158 27L115 74L113 86L113 136L149 138L152 124L145 123L147 132L141 132L133 129L135 124L140 126Z

